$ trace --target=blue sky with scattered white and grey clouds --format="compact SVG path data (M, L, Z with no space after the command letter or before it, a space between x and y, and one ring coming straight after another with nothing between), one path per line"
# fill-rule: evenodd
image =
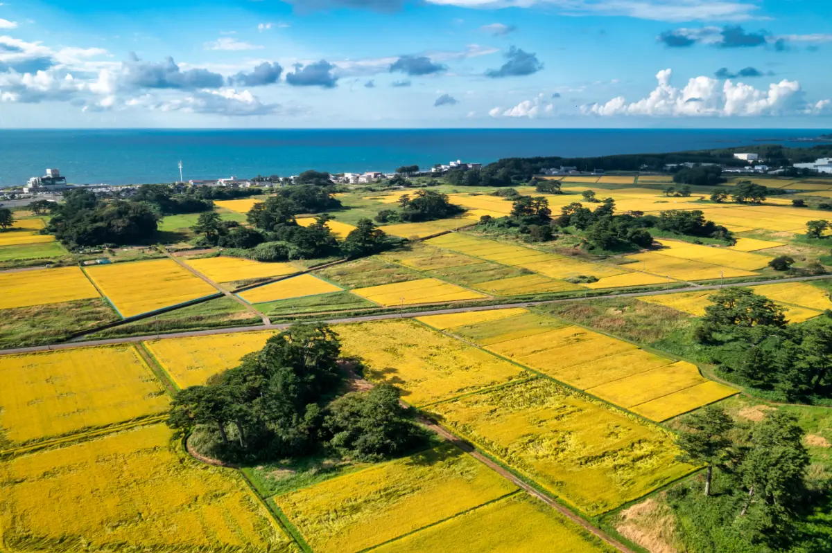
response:
M830 128L828 0L2 0L0 127Z

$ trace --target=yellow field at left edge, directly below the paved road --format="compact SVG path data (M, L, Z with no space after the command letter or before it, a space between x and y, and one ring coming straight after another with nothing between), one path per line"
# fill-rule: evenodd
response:
M133 345L0 356L0 443L161 414L170 397Z

